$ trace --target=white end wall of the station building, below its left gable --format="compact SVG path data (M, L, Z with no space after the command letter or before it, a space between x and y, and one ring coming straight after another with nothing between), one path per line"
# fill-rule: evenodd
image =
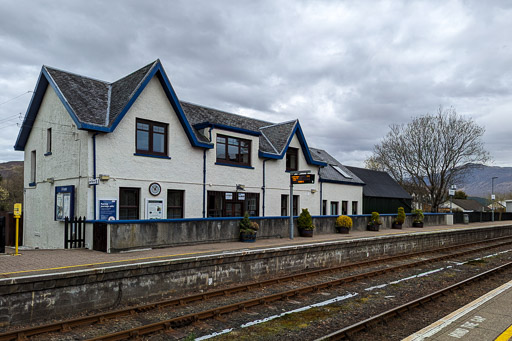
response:
M52 154L45 156L48 128L52 128ZM75 214L86 215L87 140L87 132L76 129L55 91L48 86L25 146L23 240L26 246L64 247L64 223L54 220L55 186L74 185ZM36 186L30 187L33 150L37 156ZM54 179L53 184L49 178ZM90 244L90 236L88 239L86 243Z

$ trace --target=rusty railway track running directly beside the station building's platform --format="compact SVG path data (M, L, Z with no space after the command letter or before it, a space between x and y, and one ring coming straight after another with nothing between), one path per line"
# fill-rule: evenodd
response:
M298 288L298 289L288 290L288 291L280 292L280 293L273 294L273 295L267 295L264 297L245 300L242 302L237 302L235 304L217 307L215 309L210 309L210 310L202 311L199 313L187 314L184 316L180 316L180 317L176 317L173 319L149 324L146 326L133 328L133 329L129 329L129 330L118 332L118 333L113 333L110 335L100 336L100 337L97 337L97 338L94 338L91 340L122 340L122 339L131 338L134 336L141 336L141 335L147 335L150 333L155 333L157 331L166 330L169 328L179 328L179 327L189 325L196 321L201 321L201 320L205 320L205 319L209 319L209 318L218 318L222 315L229 314L234 311L244 310L244 309L247 309L250 307L271 303L271 302L274 302L277 300L288 299L288 298L291 298L294 296L298 296L298 295L302 295L302 294L306 294L306 293L310 293L310 292L316 292L319 290L338 286L338 285L341 285L344 283L351 283L351 282L355 282L355 281L358 281L361 279L382 275L382 274L385 274L388 272L399 271L399 270L405 269L405 268L421 266L421 265L424 265L427 263L439 262L439 261L443 261L443 260L454 258L454 257L460 257L460 256L468 255L471 253L475 253L475 252L481 252L481 251L489 250L492 248L510 245L511 239L512 239L512 237L503 237L503 238L487 240L485 242L485 244L489 244L489 243L494 243L494 244L486 245L484 247L472 248L472 249L468 249L468 250L464 250L464 251L458 251L455 253L441 255L441 256L437 256L437 257L433 257L433 258L429 258L429 259L423 259L420 261L410 262L410 263L406 263L406 264L400 264L397 266L392 266L392 267L388 267L388 268L384 268L384 269L363 272L360 274L346 276L346 277L342 277L342 278L339 278L336 280L331 280L331 281L322 282L322 283L318 283L318 284L314 284L314 285L310 285L310 286L305 286L305 287ZM313 276L319 276L322 274L339 272L339 271L343 271L343 270L347 270L347 269L351 269L351 268L355 268L355 267L356 268L367 267L367 266L374 265L376 263L388 263L391 261L403 260L406 258L414 258L414 257L418 257L418 256L423 256L426 254L431 254L431 253L449 252L451 250L457 250L457 249L461 249L461 248L470 248L475 245L481 245L481 244L482 244L482 242L468 243L468 244L462 244L462 245L457 245L457 246L439 248L436 250L415 252L415 253L409 253L409 254L404 254L404 255L379 258L379 259L375 259L375 260L350 263L350 264L341 265L341 266L337 266L337 267L333 267L333 268L314 270L314 271L309 271L309 272L305 272L305 273L301 273L301 274L289 275L289 276L284 276L284 277L280 277L280 278L276 278L276 279L270 279L270 280L265 280L265 281L261 281L261 282L236 286L236 287L232 287L232 288L228 288L228 289L215 290L215 291L211 291L211 292L207 292L207 293L191 295L191 296L186 296L186 297L181 297L181 298L176 298L176 299L170 299L170 300L155 302L155 303L151 303L151 304L145 304L145 305L141 305L141 306L137 306L137 307L131 307L131 308L126 308L126 309L110 311L107 313L101 313L101 314L96 314L96 315L92 315L92 316L81 317L81 318L67 320L67 321L63 321L63 322L15 330L15 331L0 334L0 341L2 341L2 340L23 340L23 339L26 339L26 338L29 338L29 337L32 337L35 335L41 335L41 334L45 334L45 333L65 332L65 331L69 331L73 328L93 325L96 323L103 323L110 319L114 319L114 318L118 318L118 317L122 317L122 316L134 315L137 313L147 312L147 311L154 310L154 309L162 309L162 308L166 308L166 307L185 306L185 305L193 303L193 302L208 300L208 299L212 299L212 298L220 297L220 296L227 296L227 295L230 295L233 293L238 293L238 292L243 292L243 291L249 291L254 288L260 288L260 287L264 287L264 286L268 286L268 285L272 285L272 284L296 281L296 280L309 278L309 277L313 277Z

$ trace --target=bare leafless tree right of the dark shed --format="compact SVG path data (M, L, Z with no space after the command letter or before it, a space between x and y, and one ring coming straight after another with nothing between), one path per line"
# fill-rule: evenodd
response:
M366 165L386 170L413 196L425 197L431 211L437 212L448 187L463 176L467 165L489 160L484 132L455 109L439 108L435 115L391 125Z

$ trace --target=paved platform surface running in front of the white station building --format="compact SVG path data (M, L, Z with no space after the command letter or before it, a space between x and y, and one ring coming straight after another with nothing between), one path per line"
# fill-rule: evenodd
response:
M14 249L8 247L6 248L7 253L0 255L0 279L152 262L166 259L183 259L201 255L218 255L234 251L258 250L293 245L324 243L336 240L371 238L385 235L428 233L484 226L503 226L509 224L509 222L488 222L468 225L429 226L424 228L411 227L404 228L402 230L381 229L379 232L351 231L348 235L333 233L315 235L313 238L295 237L293 240L289 238L257 239L255 243L229 242L198 244L111 254L87 249L34 250L21 248L19 250L19 255L14 256Z

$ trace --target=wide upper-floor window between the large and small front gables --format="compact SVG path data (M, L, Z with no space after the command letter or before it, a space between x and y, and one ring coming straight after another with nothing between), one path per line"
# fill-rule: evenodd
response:
M217 162L251 165L251 141L217 135Z

